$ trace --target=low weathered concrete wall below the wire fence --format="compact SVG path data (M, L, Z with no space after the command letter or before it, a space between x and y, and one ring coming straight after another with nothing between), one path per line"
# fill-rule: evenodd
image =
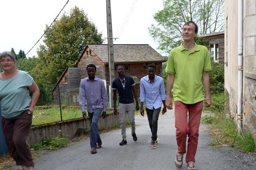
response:
M109 129L119 124L119 115L107 114L105 119L100 117L99 130ZM61 133L68 138L73 138L75 135L83 133L85 129L90 129L90 120L83 118L34 126L31 127L27 141L29 144L35 144L41 142L42 139L59 136Z

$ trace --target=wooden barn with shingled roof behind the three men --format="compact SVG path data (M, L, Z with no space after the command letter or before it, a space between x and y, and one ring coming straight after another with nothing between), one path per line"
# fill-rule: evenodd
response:
M156 75L162 76L162 63L166 59L147 44L116 44L113 45L115 77L117 65L123 65L125 75L134 78L138 97L140 96L140 79L147 75L147 65L157 66ZM61 103L78 105L80 81L87 77L88 64L96 65L96 77L105 81L109 94L108 44L88 44L76 62L77 68L66 68L53 88L55 104L58 104L58 91ZM108 96L109 97L109 96ZM111 96L112 97L112 96Z

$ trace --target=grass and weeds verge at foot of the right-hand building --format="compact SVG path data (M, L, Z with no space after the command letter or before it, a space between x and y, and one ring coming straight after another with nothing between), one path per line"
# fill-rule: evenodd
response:
M212 124L212 142L208 146L231 146L247 153L256 152L253 136L248 131L237 133L237 126L232 116L226 113L225 100L229 97L225 94L212 96L210 108L204 108L208 113L202 116L201 122Z

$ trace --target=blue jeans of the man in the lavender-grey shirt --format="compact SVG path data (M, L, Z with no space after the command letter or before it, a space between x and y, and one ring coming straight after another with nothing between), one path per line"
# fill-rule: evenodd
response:
M99 137L98 122L102 113L102 108L96 108L93 113L89 113L90 117L90 146L91 149L96 149L97 144L102 145L102 141Z

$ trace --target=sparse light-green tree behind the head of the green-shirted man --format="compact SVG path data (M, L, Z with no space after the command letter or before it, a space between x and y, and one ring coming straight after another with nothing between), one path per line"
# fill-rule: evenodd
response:
M189 20L197 23L198 34L223 30L224 0L164 0L154 19L157 25L151 24L149 33L159 42L158 49L169 53L182 42L181 30Z

